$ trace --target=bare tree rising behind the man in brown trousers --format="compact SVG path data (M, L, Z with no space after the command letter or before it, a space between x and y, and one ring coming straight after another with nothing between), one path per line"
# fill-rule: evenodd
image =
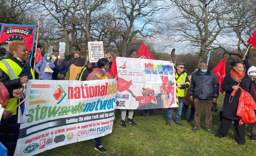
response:
M166 37L175 42L189 41L198 50L198 64L204 60L206 52L220 48L217 37L227 24L231 9L225 0L171 0L176 10L167 18Z

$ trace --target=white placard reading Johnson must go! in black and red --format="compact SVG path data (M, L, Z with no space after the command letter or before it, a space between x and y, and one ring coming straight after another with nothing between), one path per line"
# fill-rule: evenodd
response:
M97 62L104 57L103 42L88 42L89 61Z

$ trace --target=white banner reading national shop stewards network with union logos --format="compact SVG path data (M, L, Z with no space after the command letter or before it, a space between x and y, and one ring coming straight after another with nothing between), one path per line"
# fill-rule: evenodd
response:
M31 156L55 147L112 132L116 79L29 80L15 156Z

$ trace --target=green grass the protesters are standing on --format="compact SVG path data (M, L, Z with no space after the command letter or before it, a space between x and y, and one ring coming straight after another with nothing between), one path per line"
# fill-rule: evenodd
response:
M218 98L218 109L222 106L224 95ZM208 134L205 128L205 116L202 112L201 129L192 131L193 122L183 120L185 127L174 122L166 126L166 111L155 111L150 117L140 116L141 110L135 111L134 120L138 126L119 124L121 114L115 111L113 132L102 137L102 144L107 153L94 149L92 140L57 147L37 156L254 156L256 142L250 140L251 126L246 127L246 143L237 145L234 139L234 127L231 126L226 138L216 138ZM190 112L190 109L188 110ZM213 131L218 129L219 111L213 113ZM189 114L187 114L187 118ZM173 113L173 119L175 113Z

